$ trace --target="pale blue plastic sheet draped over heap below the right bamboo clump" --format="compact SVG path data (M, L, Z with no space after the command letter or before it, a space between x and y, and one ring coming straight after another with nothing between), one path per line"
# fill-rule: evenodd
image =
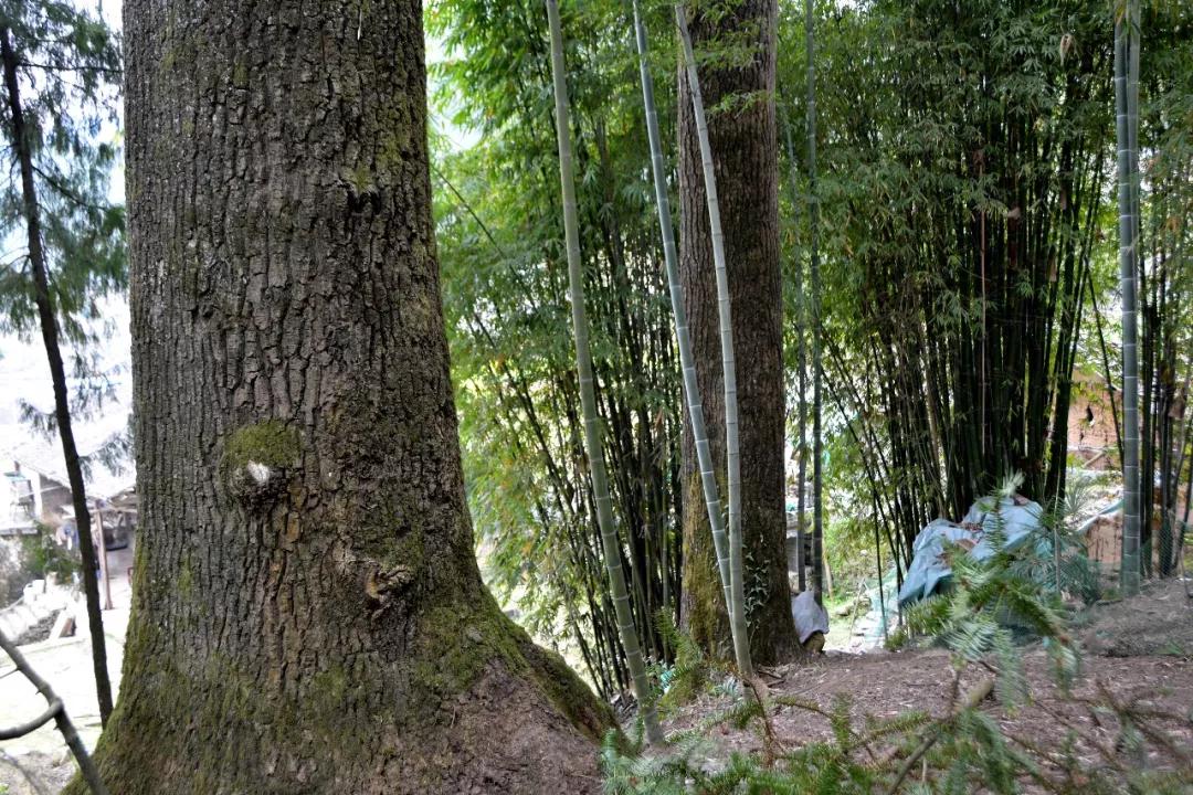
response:
M1006 548L1012 549L1043 524L1039 503L1014 497L983 497L970 507L958 524L945 518L929 522L911 544L911 566L898 592L900 607L932 596L953 574L945 559L945 545L952 544L978 560L994 554L990 534L1001 527Z

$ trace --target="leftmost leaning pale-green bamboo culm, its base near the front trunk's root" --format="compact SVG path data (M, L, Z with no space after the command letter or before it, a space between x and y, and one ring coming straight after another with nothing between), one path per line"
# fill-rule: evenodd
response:
M555 131L560 147L560 186L563 192L563 231L568 248L568 285L571 291L571 325L576 337L576 372L580 378L580 404L585 417L585 447L588 470L596 502L596 523L600 527L605 570L617 613L617 629L625 650L625 664L633 682L633 695L642 710L642 722L650 743L661 743L662 729L655 714L647 679L647 666L638 645L638 633L630 610L630 594L622 571L622 544L613 523L610 505L608 473L605 470L605 448L601 440L600 417L596 414L596 390L593 386L593 361L588 349L588 315L585 311L585 280L580 265L580 222L576 212L576 185L571 168L571 131L568 120L568 85L563 66L563 31L556 0L546 0L546 18L551 27L551 75L555 86Z

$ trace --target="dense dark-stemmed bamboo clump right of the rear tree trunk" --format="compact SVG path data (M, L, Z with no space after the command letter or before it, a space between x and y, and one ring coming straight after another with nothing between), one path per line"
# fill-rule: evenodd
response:
M779 25L793 120L798 6ZM878 526L886 560L907 565L920 528L1012 470L1041 503L1063 492L1086 280L1113 286L1108 24L1083 2L817 4L816 70L833 87L817 103L817 197L834 563L873 548ZM791 194L795 269L806 185Z

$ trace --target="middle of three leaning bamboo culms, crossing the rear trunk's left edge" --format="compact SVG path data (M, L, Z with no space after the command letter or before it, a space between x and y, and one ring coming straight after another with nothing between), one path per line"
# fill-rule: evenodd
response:
M667 198L667 167L659 133L659 112L655 110L655 81L650 76L647 61L647 27L642 23L638 0L633 0L633 33L638 46L638 67L642 73L642 105L647 117L647 137L650 142L650 168L655 181L655 204L659 206L659 228L663 240L663 261L667 265L667 286L670 291L672 313L675 317L675 341L679 344L680 368L684 371L684 397L687 399L687 416L692 422L696 440L697 465L700 467L700 485L704 504L712 528L712 545L717 553L717 570L725 595L725 609L733 602L729 573L729 539L725 534L725 517L721 504L721 487L709 447L709 429L704 424L704 402L696 380L696 361L692 356L692 339L687 330L687 311L679 284L679 257L675 254L675 234L672 224L670 203Z

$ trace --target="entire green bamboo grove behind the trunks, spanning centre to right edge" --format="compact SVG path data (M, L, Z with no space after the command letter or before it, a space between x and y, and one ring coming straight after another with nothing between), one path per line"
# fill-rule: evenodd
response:
M716 14L731 5L687 8ZM678 207L684 72L674 11L641 2L667 198ZM1022 472L1024 492L1040 502L1065 492L1070 414L1094 399L1090 383L1109 387L1121 435L1118 11L1077 0L871 0L808 11L779 4L773 97L792 504L804 493L796 480L806 455L806 470L824 472L829 570L837 580L898 579L925 523L959 518L1009 473ZM656 615L680 617L688 420L633 7L564 1L560 12L612 518L636 644L648 660L663 660L673 650ZM517 600L520 620L565 638L612 696L631 677L582 435L545 7L435 0L426 20L441 48L431 58L433 178L477 545L490 584ZM809 20L814 48L805 46ZM1191 24L1187 4L1145 2L1138 26L1133 266L1145 497L1156 484L1155 499L1141 504L1144 576L1175 571L1188 516L1174 509L1187 504L1193 470ZM736 45L706 46L696 60L733 60ZM815 187L803 135L810 66ZM709 107L733 112L734 103ZM808 302L814 234L818 311ZM823 452L814 456L817 375Z

